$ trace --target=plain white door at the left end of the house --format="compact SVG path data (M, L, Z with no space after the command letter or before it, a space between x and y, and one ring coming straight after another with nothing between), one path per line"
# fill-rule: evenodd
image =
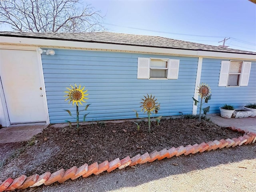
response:
M0 77L10 124L46 122L36 51L0 49Z

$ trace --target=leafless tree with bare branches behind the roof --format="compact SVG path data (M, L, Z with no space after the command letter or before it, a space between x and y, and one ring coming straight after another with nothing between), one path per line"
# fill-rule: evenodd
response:
M103 17L80 0L0 0L0 24L20 32L95 32Z

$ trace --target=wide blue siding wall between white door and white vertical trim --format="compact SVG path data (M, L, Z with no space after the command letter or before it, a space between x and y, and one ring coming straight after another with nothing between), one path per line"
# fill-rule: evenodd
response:
M87 121L135 118L132 109L140 112L141 98L154 95L160 103L158 116L192 114L192 96L196 81L198 58L167 55L54 49L55 55L42 54L44 81L50 123L60 123L73 115L76 107L64 102L66 87L74 83L88 89ZM138 57L180 60L178 79L137 79ZM84 103L86 106L86 103ZM82 107L80 107L82 109ZM83 112L80 119L82 120Z

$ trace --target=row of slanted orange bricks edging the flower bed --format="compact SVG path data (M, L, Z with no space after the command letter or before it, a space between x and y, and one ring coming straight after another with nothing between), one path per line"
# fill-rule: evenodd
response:
M189 155L189 154L195 154L197 152L204 152L204 151L210 151L210 150L216 150L216 149L222 149L224 147L229 148L232 146L240 146L242 144L251 144L256 142L256 133L249 132L248 130L242 130L240 128L236 128L234 126L228 127L230 130L233 130L234 132L241 132L245 133L244 136L240 136L238 138L228 138L226 140L221 139L220 141L214 140L210 141L208 143L202 142L201 144L194 144L193 146L179 146L177 148L170 148L169 150L163 149L161 151L154 150L150 154L146 152L143 155L137 154L136 156L130 158L130 156L127 156L126 158L123 158L120 160L119 158L116 158L115 160L108 162L108 160L102 162L101 164L98 164L98 162L94 162L90 166L87 164L84 164L80 166L79 168L76 168L76 166L64 170L63 168L54 172L45 172L44 174L38 176L38 174L34 174L30 177L26 177L25 175L22 175L15 180L12 178L6 179L4 182L0 181L0 192L4 192L7 190L14 190L14 189L26 189L28 187L35 187L40 186L42 184L44 185L50 185L54 182L59 182L60 184L65 182L68 179L75 180L76 178L82 176L83 178L86 178L90 176L91 174L98 175L104 171L112 172L116 168L123 169L127 166L135 166L136 164L144 164L146 162L153 162L154 160L162 160L164 158L171 158L173 156L180 156L182 154Z

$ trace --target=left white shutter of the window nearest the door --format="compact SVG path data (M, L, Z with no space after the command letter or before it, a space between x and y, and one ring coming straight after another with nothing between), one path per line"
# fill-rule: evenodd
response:
M138 79L149 79L150 58L138 57Z

